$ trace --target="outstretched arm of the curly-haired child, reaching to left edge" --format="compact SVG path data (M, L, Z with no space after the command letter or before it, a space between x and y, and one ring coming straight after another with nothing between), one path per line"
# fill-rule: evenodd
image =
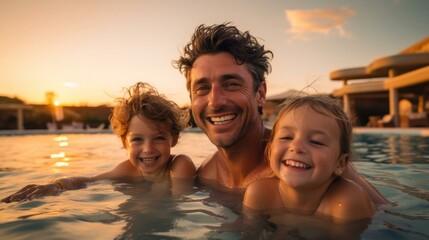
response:
M27 201L43 196L58 195L67 190L80 189L85 187L86 183L92 181L127 177L130 176L131 173L130 164L129 160L125 160L111 171L99 174L95 177L66 177L56 179L47 184L30 184L23 187L16 193L3 198L1 201L5 203Z

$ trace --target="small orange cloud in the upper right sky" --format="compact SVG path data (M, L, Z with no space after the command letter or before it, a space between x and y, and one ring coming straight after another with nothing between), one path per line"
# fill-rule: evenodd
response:
M300 40L309 40L310 34L338 34L344 38L352 35L344 29L346 22L356 15L353 9L286 10L290 34Z

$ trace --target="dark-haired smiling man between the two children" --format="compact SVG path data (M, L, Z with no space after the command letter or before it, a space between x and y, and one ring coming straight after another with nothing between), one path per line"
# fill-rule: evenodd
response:
M273 176L264 157L271 130L260 116L272 57L249 32L226 23L200 25L175 62L187 80L195 123L218 149L198 169L202 183L245 190ZM366 189L375 203L386 202L350 168L346 178Z

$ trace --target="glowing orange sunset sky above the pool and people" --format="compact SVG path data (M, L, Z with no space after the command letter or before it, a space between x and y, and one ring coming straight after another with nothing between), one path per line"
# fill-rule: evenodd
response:
M189 103L171 62L199 24L232 22L274 52L268 95L361 67L429 36L427 0L1 0L0 95L110 104L137 81Z

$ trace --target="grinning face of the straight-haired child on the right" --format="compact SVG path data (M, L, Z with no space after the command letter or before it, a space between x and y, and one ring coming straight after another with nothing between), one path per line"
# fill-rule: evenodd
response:
M287 185L311 188L335 177L340 156L340 129L335 119L304 105L278 120L269 151L270 166ZM341 161L340 161L341 160Z

